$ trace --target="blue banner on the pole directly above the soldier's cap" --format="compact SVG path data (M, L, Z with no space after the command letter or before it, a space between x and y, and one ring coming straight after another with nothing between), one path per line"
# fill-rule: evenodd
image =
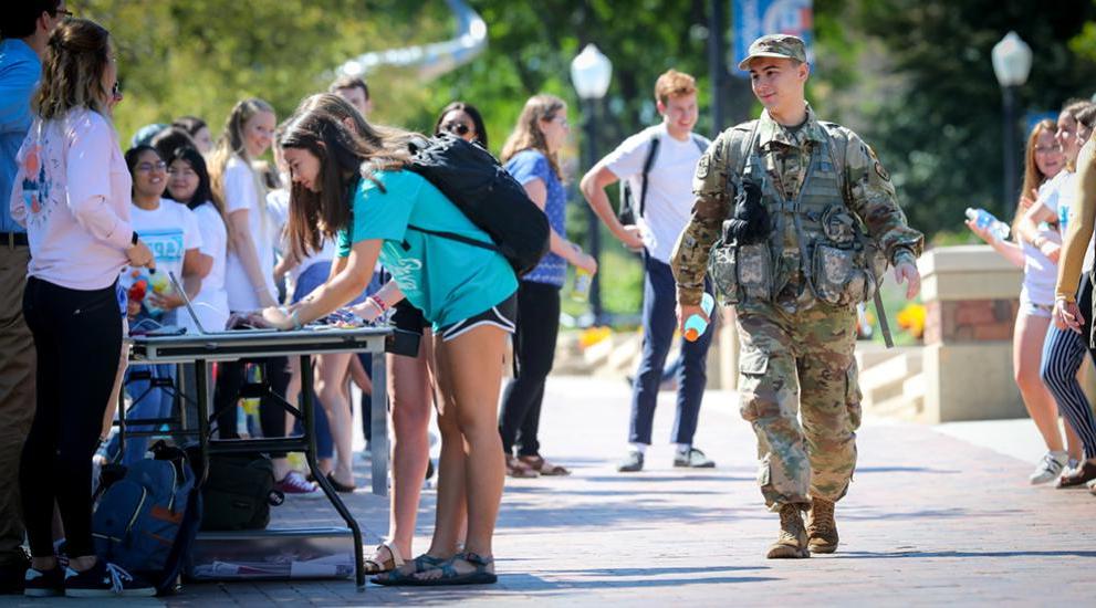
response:
M734 19L731 38L734 57L731 73L748 77L738 69L749 55L750 43L765 34L792 34L806 43L807 63L814 63L814 8L812 0L732 0Z

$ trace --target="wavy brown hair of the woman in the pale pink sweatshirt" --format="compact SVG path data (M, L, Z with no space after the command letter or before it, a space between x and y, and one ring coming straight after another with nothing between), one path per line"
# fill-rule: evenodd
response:
M87 19L65 19L45 46L42 84L32 107L43 120L64 117L84 107L107 116L111 92L103 88L103 73L111 62L111 32Z

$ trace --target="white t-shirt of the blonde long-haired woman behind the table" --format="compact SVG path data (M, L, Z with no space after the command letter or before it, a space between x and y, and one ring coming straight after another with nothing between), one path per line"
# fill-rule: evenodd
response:
M225 167L225 209L231 221L236 211L248 212L248 231L255 245L259 269L267 283L271 297L278 297L274 286L274 239L278 229L265 211L265 205L259 201L255 191L254 174L247 163L238 156L229 159ZM236 249L228 252L228 263L225 265L225 289L228 291L228 305L232 311L253 311L259 308L259 295L255 294L251 279L243 269L243 263Z

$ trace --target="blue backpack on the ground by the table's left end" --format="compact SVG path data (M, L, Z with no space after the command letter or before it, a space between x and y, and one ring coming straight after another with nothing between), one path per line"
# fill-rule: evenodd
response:
M111 484L92 517L100 558L122 566L156 587L174 590L201 520L201 494L186 453L163 441L155 459L128 468Z

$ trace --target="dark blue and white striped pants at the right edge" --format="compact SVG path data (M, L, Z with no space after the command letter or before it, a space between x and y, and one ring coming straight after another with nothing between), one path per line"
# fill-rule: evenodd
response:
M1085 458L1096 458L1096 416L1093 416L1088 399L1081 390L1077 370L1081 369L1086 353L1096 360L1096 352L1089 350L1085 344L1092 335L1092 300L1093 284L1085 273L1077 291L1077 306L1085 317L1082 333L1058 329L1052 323L1043 344L1043 363L1040 369L1043 382L1058 403L1058 411L1081 438Z

